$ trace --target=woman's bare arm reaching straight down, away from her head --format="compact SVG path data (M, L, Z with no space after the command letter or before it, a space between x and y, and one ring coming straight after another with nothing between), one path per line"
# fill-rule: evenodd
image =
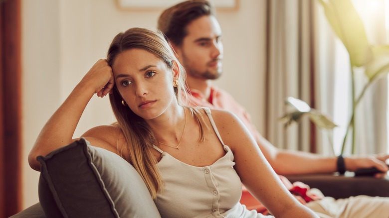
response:
M272 215L280 218L317 217L289 193L266 161L255 139L235 115L212 110L212 116L224 143L234 154L234 169L242 183Z

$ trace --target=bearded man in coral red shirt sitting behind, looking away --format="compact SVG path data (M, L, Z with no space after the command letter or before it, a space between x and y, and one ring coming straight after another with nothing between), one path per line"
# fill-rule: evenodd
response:
M273 167L276 173L281 175L287 174L308 174L308 173L331 173L336 171L355 171L359 168L377 167L383 173L388 171L385 164L388 155L377 157L323 157L318 154L307 152L297 152L278 149L269 141L259 134L251 123L250 116L245 109L240 106L228 93L212 86L211 81L217 79L222 74L222 55L223 45L221 42L221 28L216 20L214 8L206 0L189 0L176 4L161 14L158 20L158 29L165 33L166 37L172 44L177 56L187 72L187 82L193 96L191 103L197 106L204 106L211 109L225 109L235 113L247 126L256 139L258 146ZM281 177L284 184L291 190L294 189L292 184ZM295 189L294 189L295 190ZM300 201L306 203L317 200L320 196L312 196L310 193L300 193L308 195L308 198ZM247 191L243 192L243 203L249 195ZM305 196L307 197L307 196ZM379 202L373 204L372 198L366 197L376 210L384 210L378 213L389 214L389 199L378 198ZM377 199L376 199L377 200ZM312 201L307 204L311 209L329 216L340 214L350 217L358 217L373 214L360 214L351 210L350 206L357 208L358 204L366 204L363 197L347 199L347 203L331 205L332 212L326 210L326 204L329 198L320 201ZM255 203L249 203L254 206ZM259 203L258 203L259 204ZM380 205L381 204L381 205ZM385 205L385 206L384 206ZM250 205L249 205L250 206ZM346 207L347 206L347 207ZM354 207L355 206L355 207ZM254 206L257 211L263 212L264 207L261 205ZM370 206L369 206L370 207ZM347 208L347 209L346 209ZM350 214L351 213L351 214ZM355 213L355 214L352 214ZM375 214L381 215L381 214Z

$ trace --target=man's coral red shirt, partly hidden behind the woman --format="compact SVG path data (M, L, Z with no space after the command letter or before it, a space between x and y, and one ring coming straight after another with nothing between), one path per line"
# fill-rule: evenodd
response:
M197 90L191 89L190 93L193 97L189 101L191 106L207 107L210 109L223 109L233 112L246 125L248 130L254 136L255 140L258 141L258 139L262 137L262 135L252 124L250 115L227 92L216 87L211 87L211 95L208 99L209 102L201 94L201 92ZM303 197L306 202L318 200L324 197L320 196L320 194L311 193L309 186L305 185L304 183L296 182L292 184L284 176L279 176L279 178L292 194ZM242 197L240 199L240 203L245 205L248 210L256 210L258 213L267 215L267 209L259 201L257 201L244 186L242 188Z

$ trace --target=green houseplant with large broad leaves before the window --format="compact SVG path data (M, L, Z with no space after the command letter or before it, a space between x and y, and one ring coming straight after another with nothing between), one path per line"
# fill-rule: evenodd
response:
M372 45L369 43L366 30L363 21L356 11L351 0L318 0L324 9L325 15L332 29L344 44L350 56L350 67L351 67L351 89L352 89L352 113L348 123L345 137L343 139L341 153L344 153L346 147L346 141L351 140L351 152L355 152L355 113L358 104L365 95L366 90L374 84L380 76L388 73L389 71L389 45ZM355 70L361 68L364 70L364 75L367 78L367 82L363 85L360 93L356 92L356 78ZM287 101L288 104L292 105ZM288 120L298 121L302 114L308 113L303 112L300 116L296 116L296 111L286 114L283 118ZM295 113L294 116L292 113ZM319 113L315 111L315 113ZM298 117L298 119L295 119ZM318 122L310 119L318 125ZM327 118L326 118L327 119ZM330 120L325 123L328 125L318 125L324 128L334 128L336 125ZM351 136L349 134L351 133Z

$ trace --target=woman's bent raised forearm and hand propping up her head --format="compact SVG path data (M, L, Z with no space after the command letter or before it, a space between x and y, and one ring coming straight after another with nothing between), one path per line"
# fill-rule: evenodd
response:
M97 61L40 131L28 155L32 169L39 170L37 156L44 156L73 141L78 121L92 96L97 93L97 96L104 97L113 86L111 67L106 60Z

